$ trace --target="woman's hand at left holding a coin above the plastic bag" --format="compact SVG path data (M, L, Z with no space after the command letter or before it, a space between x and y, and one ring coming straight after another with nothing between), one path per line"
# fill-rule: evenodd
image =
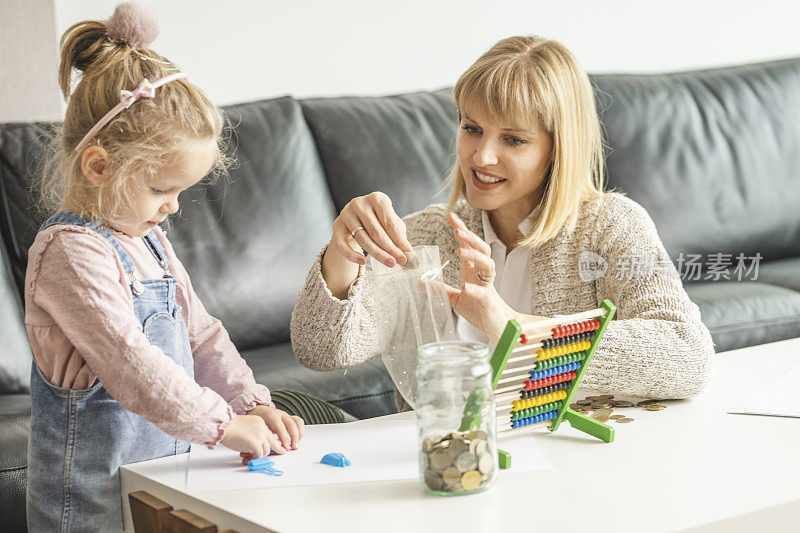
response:
M406 224L382 192L353 198L333 221L333 235L322 257L322 277L336 298L347 298L359 267L367 264L364 252L390 268L406 264L412 254Z

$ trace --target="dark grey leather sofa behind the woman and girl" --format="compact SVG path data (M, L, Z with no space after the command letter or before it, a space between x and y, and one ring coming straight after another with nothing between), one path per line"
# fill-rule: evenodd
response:
M717 350L800 336L800 58L593 82L609 184L650 212L676 263L700 264L686 288ZM393 412L380 360L347 372L300 367L289 318L347 201L382 190L401 215L431 202L452 161L449 90L285 97L226 112L238 166L230 180L184 193L170 231L198 294L259 381L309 392L362 418ZM41 219L29 185L48 138L47 125L0 125L2 531L24 529L31 356L22 291ZM753 261L743 281L733 267L725 279L712 265L735 263L738 254L760 254L756 279Z

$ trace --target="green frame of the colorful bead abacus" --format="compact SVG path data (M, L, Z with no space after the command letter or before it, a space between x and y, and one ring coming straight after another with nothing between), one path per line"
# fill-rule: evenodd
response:
M595 330L595 335L592 339L589 349L587 350L586 357L584 358L580 369L578 369L575 379L572 380L572 385L566 390L567 397L562 401L561 407L558 409L558 415L553 420L543 422L542 424L546 424L550 431L555 431L558 429L558 426L561 425L561 422L566 420L572 427L579 431L583 431L584 433L592 435L593 437L597 437L603 442L613 442L614 428L569 408L570 403L572 403L572 398L575 395L575 391L580 386L583 375L586 373L586 369L589 367L589 363L594 356L597 345L600 342L600 339L603 338L603 333L605 332L608 323L611 321L611 319L614 317L614 313L617 311L616 306L609 300L603 300L601 307L605 310L605 314L603 314L601 317L597 317L600 322L600 327ZM579 315L580 314L577 316ZM572 319L571 316L567 315L559 317L558 320L560 320L562 324L568 324L570 322L576 322L580 319ZM531 324L536 324L536 322L532 322ZM517 345L521 334L522 326L516 320L510 320L506 325L506 329L503 332L502 337L500 338L500 342L497 343L497 347L492 354L492 389L497 388L500 375L505 370L508 358L511 355L514 347ZM519 429L527 428L522 427L518 428L517 430Z

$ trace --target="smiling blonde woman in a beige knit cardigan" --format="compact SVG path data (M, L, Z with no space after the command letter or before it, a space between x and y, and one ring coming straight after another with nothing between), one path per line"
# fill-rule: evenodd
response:
M574 56L540 37L504 39L454 94L460 129L449 204L402 220L380 192L345 206L297 300L297 359L330 370L379 355L379 310L362 251L391 267L407 261L412 245L429 244L450 261L443 276L459 287L448 292L462 337L496 343L510 318L575 313L609 299L618 320L585 386L661 398L700 392L711 336L645 210L602 191L600 123ZM581 270L581 262L602 265L598 256L604 274ZM629 264L638 272L625 272Z

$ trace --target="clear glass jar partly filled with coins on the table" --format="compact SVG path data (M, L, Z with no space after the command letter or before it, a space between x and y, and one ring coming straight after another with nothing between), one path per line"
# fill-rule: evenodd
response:
M497 433L489 347L472 341L419 347L419 473L428 492L471 494L497 477Z

